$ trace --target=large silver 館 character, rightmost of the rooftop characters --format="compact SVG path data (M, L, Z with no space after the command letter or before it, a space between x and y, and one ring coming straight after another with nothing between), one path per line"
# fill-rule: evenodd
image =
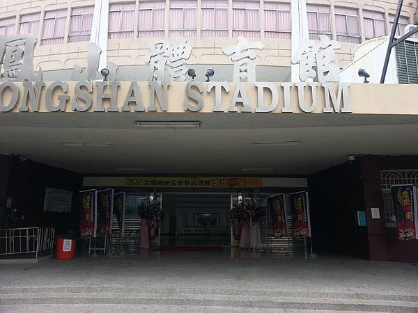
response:
M335 51L341 45L330 40L326 35L320 35L318 40L303 40L296 53L292 56L292 63L299 63L299 77L302 81L314 79L318 71L318 81L328 83L339 81L339 67L335 64Z

